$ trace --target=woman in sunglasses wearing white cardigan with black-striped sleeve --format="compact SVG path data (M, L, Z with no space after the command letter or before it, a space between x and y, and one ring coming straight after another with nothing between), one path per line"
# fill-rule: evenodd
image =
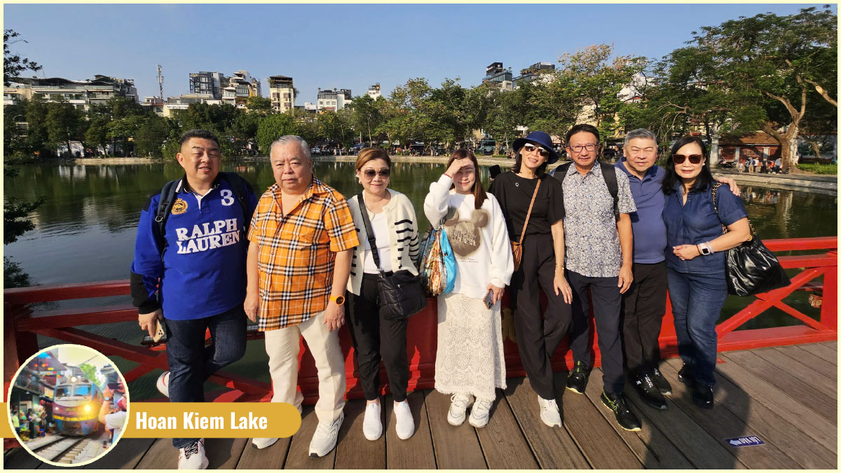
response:
M406 356L406 321L388 321L379 316L377 303L378 269L373 261L362 211L368 212L376 239L380 267L384 275L405 269L417 274L414 263L420 244L415 208L404 194L388 189L391 173L389 154L381 148L363 148L357 157L357 178L362 197L349 200L359 246L353 251L351 276L347 280L347 307L356 352L357 371L368 405L362 433L368 440L383 434L379 402L379 363L383 360L394 396L394 418L398 438L415 433L415 421L406 402L409 360Z

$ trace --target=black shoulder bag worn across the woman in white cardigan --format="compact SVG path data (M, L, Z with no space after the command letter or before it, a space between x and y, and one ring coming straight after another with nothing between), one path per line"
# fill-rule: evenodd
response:
M426 307L423 280L420 275L411 274L406 269L395 271L390 276L383 273L383 268L379 264L377 240L373 235L371 221L368 219L368 209L365 207L361 192L357 195L357 204L362 213L362 221L365 223L365 232L368 233L368 245L371 247L373 263L377 265L379 272L379 279L377 279L379 315L388 321L408 319Z

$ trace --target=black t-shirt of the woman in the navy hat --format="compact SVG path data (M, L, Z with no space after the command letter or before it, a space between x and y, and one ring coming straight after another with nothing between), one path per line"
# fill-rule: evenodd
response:
M537 198L534 199L532 216L526 227L528 235L546 235L552 233L552 224L563 219L563 188L558 179L547 174L542 176ZM512 171L501 173L490 184L489 192L500 202L508 237L520 240L523 223L526 221L528 206L532 202L537 179L517 176Z

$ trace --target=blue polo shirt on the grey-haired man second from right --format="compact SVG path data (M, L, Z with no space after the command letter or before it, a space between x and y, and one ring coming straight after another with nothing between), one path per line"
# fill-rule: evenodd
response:
M663 223L663 179L666 170L663 167L652 166L646 171L642 179L634 176L625 167L624 159L616 162L616 169L627 174L631 185L633 202L637 211L631 212L631 226L633 229L633 262L660 263L665 259L666 226Z

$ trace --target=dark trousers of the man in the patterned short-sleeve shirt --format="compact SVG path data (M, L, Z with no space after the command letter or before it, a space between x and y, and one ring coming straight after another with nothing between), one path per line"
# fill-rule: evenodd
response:
M567 280L573 288L573 328L569 347L575 361L592 365L590 353L590 300L593 299L595 330L599 334L601 352L601 371L605 391L610 393L625 391L625 373L622 369L622 344L620 336L621 294L619 277L591 278L574 271L567 271Z

